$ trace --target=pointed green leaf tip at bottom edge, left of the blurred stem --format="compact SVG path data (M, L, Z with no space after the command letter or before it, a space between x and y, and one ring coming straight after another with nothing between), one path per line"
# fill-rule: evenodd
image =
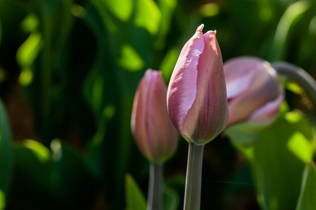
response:
M146 200L130 174L125 176L126 210L146 210Z

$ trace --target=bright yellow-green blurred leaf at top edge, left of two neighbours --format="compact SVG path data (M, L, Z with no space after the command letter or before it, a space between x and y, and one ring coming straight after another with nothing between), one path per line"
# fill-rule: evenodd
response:
M120 20L126 21L133 11L133 0L101 0L103 4Z

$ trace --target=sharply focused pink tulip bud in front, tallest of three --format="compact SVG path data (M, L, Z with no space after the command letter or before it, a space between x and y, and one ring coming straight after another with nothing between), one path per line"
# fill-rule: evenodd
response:
M189 143L204 145L226 126L228 104L223 60L216 31L204 25L184 45L170 79L170 118Z

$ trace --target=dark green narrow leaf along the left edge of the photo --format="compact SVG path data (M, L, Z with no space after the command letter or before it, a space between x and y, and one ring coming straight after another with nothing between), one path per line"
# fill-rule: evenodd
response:
M11 130L5 107L0 100L0 190L7 194L13 171Z

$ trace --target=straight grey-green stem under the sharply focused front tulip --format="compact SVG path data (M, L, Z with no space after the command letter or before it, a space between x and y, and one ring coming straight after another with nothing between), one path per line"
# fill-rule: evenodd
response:
M189 143L184 210L199 210L204 145Z

